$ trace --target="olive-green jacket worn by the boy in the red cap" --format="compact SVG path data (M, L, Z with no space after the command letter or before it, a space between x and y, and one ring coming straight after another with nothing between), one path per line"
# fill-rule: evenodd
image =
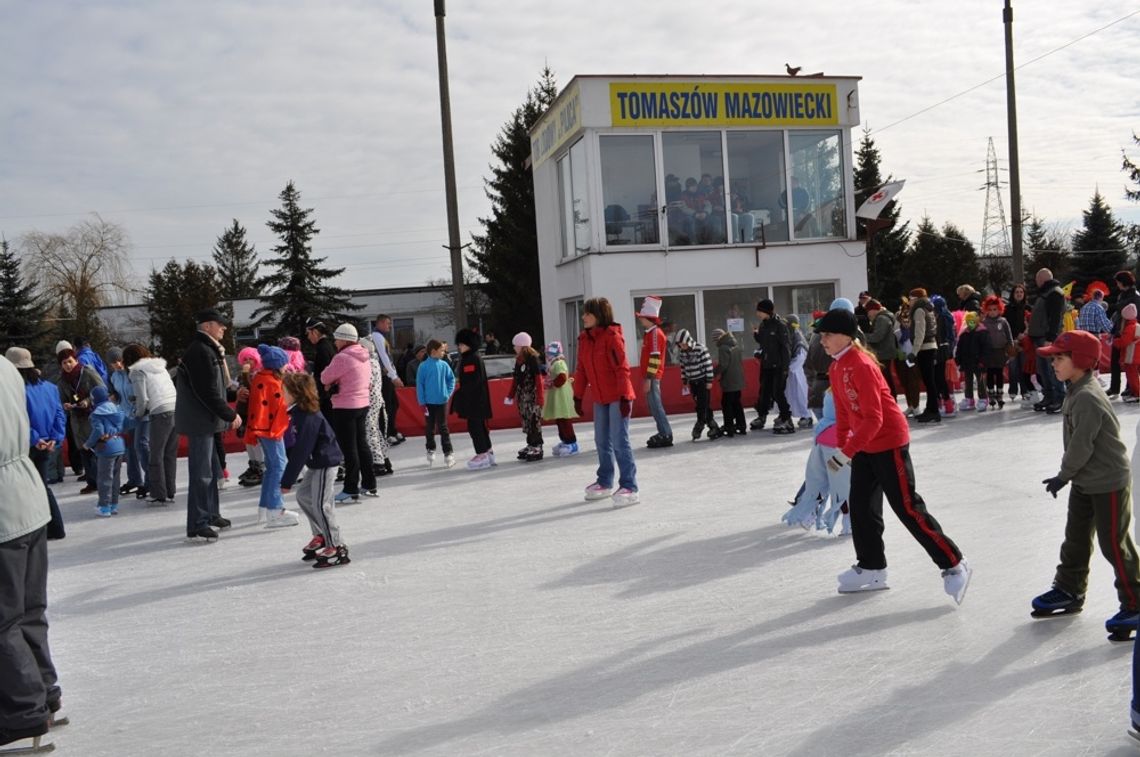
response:
M1092 373L1069 384L1061 407L1065 456L1059 475L1085 494L1119 491L1132 481L1121 423Z

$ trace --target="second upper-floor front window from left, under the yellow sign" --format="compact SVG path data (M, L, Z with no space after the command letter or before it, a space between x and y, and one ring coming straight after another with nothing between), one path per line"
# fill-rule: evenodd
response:
M669 246L724 244L724 156L719 131L661 135Z

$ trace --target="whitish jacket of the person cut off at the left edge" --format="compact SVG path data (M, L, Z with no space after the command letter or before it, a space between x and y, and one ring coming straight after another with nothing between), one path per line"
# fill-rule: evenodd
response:
M11 363L0 360L0 544L51 520L47 489L27 456L30 433L24 380Z

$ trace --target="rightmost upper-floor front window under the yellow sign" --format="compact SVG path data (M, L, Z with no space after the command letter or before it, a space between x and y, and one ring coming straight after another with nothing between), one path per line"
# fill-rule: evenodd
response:
M792 236L847 236L842 139L838 131L789 133ZM788 194L782 207L788 206Z

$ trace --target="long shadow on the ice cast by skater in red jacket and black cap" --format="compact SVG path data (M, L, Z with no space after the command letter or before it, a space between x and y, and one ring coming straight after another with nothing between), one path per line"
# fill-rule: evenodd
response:
M765 662L804 651L815 653L819 646L833 643L837 633L841 633L845 641L852 641L901 625L928 624L953 612L952 608L943 605L844 619L841 626L824 618L849 607L847 597L829 596L743 630L679 648L676 646L678 641L699 632L646 641L520 689L467 717L392 735L378 744L377 754L409 754L451 741L458 750L458 744L471 746L466 740L483 733L500 734L510 741L511 734L547 727L552 722L620 713L629 702L654 691L728 670L748 667L765 677ZM773 665L772 669L785 670L787 666ZM771 684L776 685L776 682L773 679Z

